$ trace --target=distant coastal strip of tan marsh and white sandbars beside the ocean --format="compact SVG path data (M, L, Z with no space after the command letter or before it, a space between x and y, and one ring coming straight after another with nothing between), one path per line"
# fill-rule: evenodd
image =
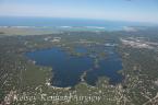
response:
M121 26L120 30L108 30L101 26L0 26L0 35L47 35L63 32L137 32L158 26Z

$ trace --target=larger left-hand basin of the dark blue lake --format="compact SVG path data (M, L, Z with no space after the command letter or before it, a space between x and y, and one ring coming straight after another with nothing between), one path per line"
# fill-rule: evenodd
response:
M27 52L26 56L40 66L52 67L52 85L66 88L80 82L80 77L85 70L93 67L93 60L88 57L71 57L59 48Z

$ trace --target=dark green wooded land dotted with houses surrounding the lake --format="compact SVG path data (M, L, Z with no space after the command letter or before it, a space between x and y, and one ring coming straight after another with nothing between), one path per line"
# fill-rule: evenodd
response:
M73 89L49 85L53 68L36 66L27 59L26 51L61 47L70 55L80 46L99 46L107 42L117 45L122 57L125 79L110 85L108 78L100 77L96 86L84 81ZM108 45L106 45L108 46ZM99 51L95 63L106 58ZM0 36L0 103L11 105L157 105L158 104L158 30L137 32L62 32L49 35ZM86 74L86 73L85 73ZM83 75L84 77L84 75ZM72 96L53 101L52 96ZM77 96L84 96L77 98ZM86 97L87 96L87 97ZM94 96L89 100L88 96ZM46 104L47 103L47 104Z

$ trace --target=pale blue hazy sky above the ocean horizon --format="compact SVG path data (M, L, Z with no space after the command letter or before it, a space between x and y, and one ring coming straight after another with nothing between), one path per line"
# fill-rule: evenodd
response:
M0 0L0 16L158 23L158 0Z

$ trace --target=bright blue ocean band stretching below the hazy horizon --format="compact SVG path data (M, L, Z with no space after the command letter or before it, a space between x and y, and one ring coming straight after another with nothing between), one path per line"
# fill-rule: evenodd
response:
M62 18L0 18L0 26L61 26L105 28L108 31L122 30L123 26L150 26L153 24L122 21L104 21L87 19L62 19Z

